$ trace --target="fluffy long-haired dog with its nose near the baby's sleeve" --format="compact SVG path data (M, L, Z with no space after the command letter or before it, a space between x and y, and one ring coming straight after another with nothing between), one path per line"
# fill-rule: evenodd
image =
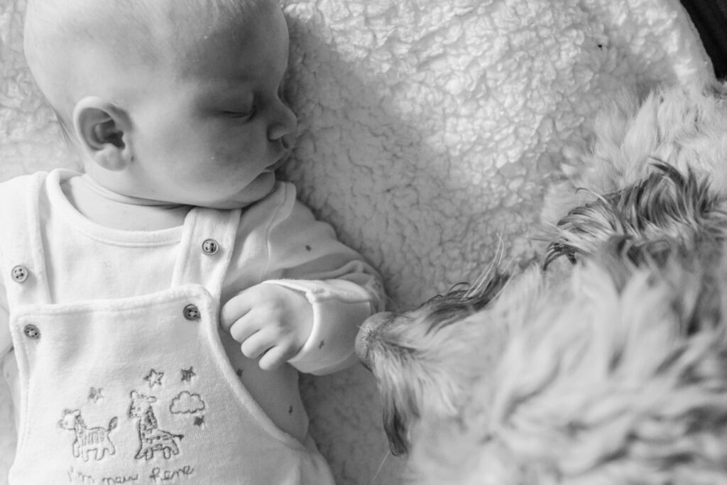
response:
M417 483L727 484L722 87L624 96L594 132L538 262L362 326Z

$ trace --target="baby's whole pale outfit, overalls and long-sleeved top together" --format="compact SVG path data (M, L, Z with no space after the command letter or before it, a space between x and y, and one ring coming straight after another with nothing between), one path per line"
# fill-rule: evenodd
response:
M332 372L379 305L376 273L289 184L244 212L196 208L181 228L117 231L65 199L75 175L0 185L0 337L12 335L19 418L10 483L332 484L297 372L244 358L220 332L220 301L262 281L305 292L313 332L290 364Z

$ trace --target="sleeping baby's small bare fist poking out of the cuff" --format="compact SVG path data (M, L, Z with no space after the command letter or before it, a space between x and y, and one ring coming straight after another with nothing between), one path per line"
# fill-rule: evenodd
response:
M276 284L257 284L230 298L220 312L222 328L241 343L260 369L277 369L300 351L313 329L305 295Z

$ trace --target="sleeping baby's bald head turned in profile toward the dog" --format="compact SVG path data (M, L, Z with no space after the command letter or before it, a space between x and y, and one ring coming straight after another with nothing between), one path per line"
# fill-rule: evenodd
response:
M275 0L29 0L25 55L105 188L220 209L272 190L296 127Z

